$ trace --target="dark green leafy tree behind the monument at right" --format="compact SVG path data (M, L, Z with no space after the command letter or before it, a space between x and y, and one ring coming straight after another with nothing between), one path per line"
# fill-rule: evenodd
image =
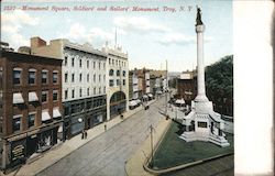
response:
M224 112L224 109L233 106L233 55L224 56L206 67L206 89L208 98L216 105L216 110L232 116L232 110Z

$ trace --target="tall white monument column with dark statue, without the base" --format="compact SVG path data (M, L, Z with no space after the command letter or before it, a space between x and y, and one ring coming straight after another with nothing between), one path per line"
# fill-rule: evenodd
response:
M200 9L198 8L197 23L196 23L198 92L197 92L197 97L195 98L195 101L208 101L208 98L206 97L206 86L205 86L204 32L205 32L205 25L201 21Z

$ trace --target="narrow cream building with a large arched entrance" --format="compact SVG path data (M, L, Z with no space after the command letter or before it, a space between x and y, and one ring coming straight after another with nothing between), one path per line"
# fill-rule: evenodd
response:
M107 54L107 119L110 120L129 110L128 54L121 47L102 48Z

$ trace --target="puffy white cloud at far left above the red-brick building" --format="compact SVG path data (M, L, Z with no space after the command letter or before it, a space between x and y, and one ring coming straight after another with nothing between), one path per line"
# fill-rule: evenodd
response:
M33 18L29 13L22 10L14 10L13 12L1 14L2 25L1 33L2 37L10 43L11 47L19 47L29 45L29 38L25 38L20 34L20 30L23 26L34 26L40 23L38 18Z

